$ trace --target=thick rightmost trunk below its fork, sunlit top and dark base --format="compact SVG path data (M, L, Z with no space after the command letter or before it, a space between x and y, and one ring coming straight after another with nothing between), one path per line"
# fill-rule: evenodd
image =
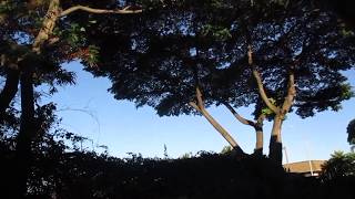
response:
M274 117L274 124L270 138L268 157L277 165L282 165L282 140L281 140L281 127L283 117L276 114Z

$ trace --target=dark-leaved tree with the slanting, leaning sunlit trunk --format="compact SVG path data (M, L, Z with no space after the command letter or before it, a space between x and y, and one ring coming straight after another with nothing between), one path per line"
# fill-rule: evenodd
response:
M242 153L237 142L207 112L210 105L223 103L229 94L241 105L253 102L245 98L256 96L241 94L248 93L250 86L241 85L250 84L250 81L236 81L248 71L224 72L223 63L219 62L223 54L215 52L227 32L207 25L215 15L227 19L230 13L235 13L232 15L236 18L237 6L239 2L232 1L227 6L215 1L180 1L166 4L164 10L144 12L134 19L140 23L122 24L112 19L111 30L97 30L92 35L106 40L97 43L102 50L99 56L101 66L89 70L112 80L110 91L118 100L133 101L138 107L153 106L160 116L203 115L236 151ZM120 34L121 27L133 33ZM213 35L207 35L211 31ZM231 75L231 78L224 78L222 74Z

